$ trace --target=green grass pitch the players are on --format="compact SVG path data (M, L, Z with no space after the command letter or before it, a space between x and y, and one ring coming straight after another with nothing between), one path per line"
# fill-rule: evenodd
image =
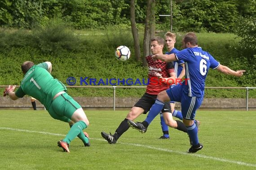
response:
M0 170L255 170L256 111L199 110L199 141L204 148L186 153L189 138L169 128L171 140L162 135L157 116L145 134L128 129L116 144L101 132L115 132L128 110L85 110L85 129L91 146L78 138L70 153L57 147L69 130L67 123L52 119L44 110L0 110ZM141 115L137 121L142 121Z

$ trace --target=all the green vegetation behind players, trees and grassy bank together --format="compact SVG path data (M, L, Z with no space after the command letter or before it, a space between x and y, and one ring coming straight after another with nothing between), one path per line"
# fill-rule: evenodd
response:
M62 82L70 76L78 81L85 77L146 78L146 68L134 57L126 62L118 62L114 57L119 45L128 46L134 54L129 3L129 0L0 1L0 85L19 84L20 64L25 60L51 61L53 76ZM159 15L170 14L171 4L170 0L155 0L155 3L156 29L163 36L170 29L170 17ZM147 1L135 0L135 4L136 22L142 23L137 25L142 47ZM181 49L179 32L199 32L199 46L221 64L247 71L242 78L210 71L206 86L256 86L256 0L172 0L172 16L178 49ZM69 91L75 96L112 95L112 89L70 88ZM144 92L145 89L117 89L116 95L141 96ZM244 96L244 90L206 90L206 97ZM250 97L255 96L256 90L252 90Z

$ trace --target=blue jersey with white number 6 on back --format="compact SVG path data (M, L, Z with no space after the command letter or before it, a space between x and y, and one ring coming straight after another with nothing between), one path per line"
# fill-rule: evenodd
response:
M203 97L208 70L218 68L220 63L201 47L185 48L175 55L185 62L187 81L183 82L183 90L190 97Z

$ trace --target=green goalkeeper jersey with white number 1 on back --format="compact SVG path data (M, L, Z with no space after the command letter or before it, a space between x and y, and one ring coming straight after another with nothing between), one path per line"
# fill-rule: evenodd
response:
M48 64L40 63L26 72L15 94L18 98L26 94L36 98L48 109L53 97L61 91L66 91L66 86L48 72Z

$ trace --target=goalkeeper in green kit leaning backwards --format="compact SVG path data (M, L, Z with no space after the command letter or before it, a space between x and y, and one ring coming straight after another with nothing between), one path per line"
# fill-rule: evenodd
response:
M88 134L83 132L89 125L84 110L66 93L66 86L50 74L51 62L35 65L26 61L21 68L25 76L20 87L14 92L15 85L9 85L4 90L4 96L9 95L12 100L17 100L29 95L40 101L54 119L69 123L70 131L63 140L57 142L65 152L69 152L69 144L76 136L83 141L84 146L90 146Z

